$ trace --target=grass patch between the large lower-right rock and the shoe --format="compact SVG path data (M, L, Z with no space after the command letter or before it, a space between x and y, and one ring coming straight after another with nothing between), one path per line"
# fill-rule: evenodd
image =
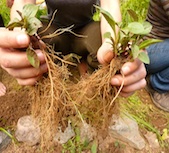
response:
M123 101L123 98L121 99ZM155 133L161 147L168 147L168 143L165 142L164 129L168 129L169 114L157 109L153 105L142 102L137 94L134 94L121 102L121 112L125 115L129 114L139 125L139 127L145 131ZM159 115L161 119L166 121L166 126L163 129L159 129L154 125L153 120L156 115Z

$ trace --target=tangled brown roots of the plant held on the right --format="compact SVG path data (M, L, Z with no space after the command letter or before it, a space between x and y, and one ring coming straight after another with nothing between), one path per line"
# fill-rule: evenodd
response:
M119 96L120 89L110 85L111 78L121 69L123 63L121 59L113 59L109 65L103 66L93 74L82 78L72 90L72 97L83 116L87 116L88 121L95 127L101 125L105 127L109 123L109 118L113 114L114 101ZM98 118L95 121L88 117L88 114Z

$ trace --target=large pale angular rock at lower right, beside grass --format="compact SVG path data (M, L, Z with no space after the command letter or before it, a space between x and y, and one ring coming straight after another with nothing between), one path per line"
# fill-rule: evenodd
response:
M129 144L135 149L142 150L146 146L145 140L139 133L137 122L127 116L113 115L109 133L112 137Z

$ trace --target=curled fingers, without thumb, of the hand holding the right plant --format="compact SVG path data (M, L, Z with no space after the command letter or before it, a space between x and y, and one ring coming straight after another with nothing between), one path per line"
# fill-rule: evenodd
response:
M142 89L146 86L146 69L140 60L135 59L133 62L125 63L121 68L121 72L124 77L121 74L116 74L111 79L111 85L120 86L124 82L123 88L120 92L120 95L123 97L128 97L136 90Z

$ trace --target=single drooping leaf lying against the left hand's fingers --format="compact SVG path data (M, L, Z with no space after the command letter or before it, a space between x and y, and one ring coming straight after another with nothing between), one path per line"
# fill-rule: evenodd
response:
M26 54L27 54L27 58L28 58L28 61L30 62L30 64L35 68L39 68L40 61L39 61L39 58L38 58L37 54L35 53L34 49L28 47L26 50Z

